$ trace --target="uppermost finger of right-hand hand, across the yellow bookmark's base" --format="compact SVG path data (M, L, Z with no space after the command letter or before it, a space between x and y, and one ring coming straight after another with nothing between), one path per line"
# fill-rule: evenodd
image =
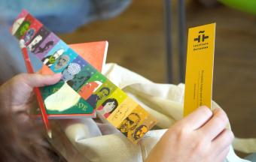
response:
M212 111L208 107L203 106L199 107L190 115L187 115L181 122L187 125L187 129L197 130L202 127L206 121L209 121L211 117Z

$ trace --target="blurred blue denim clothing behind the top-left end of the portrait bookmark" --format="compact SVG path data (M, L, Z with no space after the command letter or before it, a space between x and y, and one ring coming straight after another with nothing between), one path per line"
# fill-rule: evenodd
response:
M117 16L132 0L1 0L0 1L0 83L26 72L17 39L8 28L24 8L51 31L71 32L95 20ZM30 55L36 70L41 62Z

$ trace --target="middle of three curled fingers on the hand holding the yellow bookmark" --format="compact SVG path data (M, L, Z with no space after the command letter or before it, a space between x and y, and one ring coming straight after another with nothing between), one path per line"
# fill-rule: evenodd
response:
M228 118L226 113L221 109L216 109L213 112L212 118L200 128L209 140L215 139L227 126Z

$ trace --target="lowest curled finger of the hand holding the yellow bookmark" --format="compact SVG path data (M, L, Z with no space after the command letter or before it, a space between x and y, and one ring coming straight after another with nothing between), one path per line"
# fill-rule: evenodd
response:
M230 147L233 138L233 132L225 129L212 141L212 148L218 149L216 152L221 154L222 151Z

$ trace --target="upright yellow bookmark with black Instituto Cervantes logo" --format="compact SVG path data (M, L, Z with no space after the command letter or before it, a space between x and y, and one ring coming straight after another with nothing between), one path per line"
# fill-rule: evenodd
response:
M212 107L215 23L189 28L184 116L200 106Z

